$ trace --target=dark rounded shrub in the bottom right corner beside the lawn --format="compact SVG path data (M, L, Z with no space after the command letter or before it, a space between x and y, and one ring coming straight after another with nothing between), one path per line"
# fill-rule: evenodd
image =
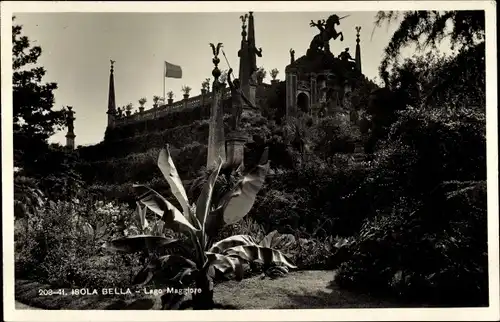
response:
M485 183L460 185L443 187L432 205L412 211L402 203L368 220L337 283L443 305L486 304Z

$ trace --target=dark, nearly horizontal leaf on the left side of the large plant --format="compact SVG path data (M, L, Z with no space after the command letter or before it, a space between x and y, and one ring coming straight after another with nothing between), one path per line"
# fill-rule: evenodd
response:
M160 247L167 247L167 245L173 245L177 242L177 239L162 236L136 235L108 241L103 247L112 251L135 253L145 249L155 251Z

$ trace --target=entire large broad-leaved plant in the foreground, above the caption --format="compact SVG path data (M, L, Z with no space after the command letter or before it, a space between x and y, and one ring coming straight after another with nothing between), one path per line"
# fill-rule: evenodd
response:
M165 228L188 236L192 252L167 255L160 253L158 257L152 257L137 274L134 284L146 285L156 277L164 277L162 274L166 270L175 268L176 275L170 282L179 288L193 285L196 289L201 289L201 292L192 294L192 306L194 309L211 309L214 305L213 279L216 272L241 280L244 273L243 265L253 261L263 264L279 263L289 268L296 268L280 251L259 245L247 235L231 236L213 242L222 227L238 222L250 211L269 170L267 154L266 149L259 164L220 198L214 194L215 183L223 164L222 160L219 160L196 203L190 204L168 146L162 149L158 167L182 211L153 189L135 185L138 189L146 190L138 198L139 203L160 217ZM125 252L143 251L144 248L157 251L176 243L178 240L163 236L137 235L112 240L106 243L105 247Z

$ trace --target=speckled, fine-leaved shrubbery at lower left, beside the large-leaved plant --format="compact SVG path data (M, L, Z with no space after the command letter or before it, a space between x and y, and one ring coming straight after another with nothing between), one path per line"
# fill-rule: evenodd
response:
M124 207L79 202L47 202L15 234L16 275L54 287L120 287L130 281L133 256L97 260L106 236L123 235L129 212ZM121 227L122 226L122 227Z

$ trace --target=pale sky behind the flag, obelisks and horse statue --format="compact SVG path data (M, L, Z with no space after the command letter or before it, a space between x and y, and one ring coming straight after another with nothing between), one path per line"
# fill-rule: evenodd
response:
M58 84L55 108L71 105L76 112L77 145L95 144L104 137L110 59L115 63L116 103L124 106L146 97L149 108L154 95L163 95L163 61L180 65L182 79L166 79L166 91L175 99L181 87L200 93L201 82L211 77L212 51L209 43L222 42L229 63L238 70L237 52L241 41L240 15L226 13L17 13L16 21L34 44L42 47L38 65L47 70L44 81ZM257 65L267 71L277 68L284 79L284 68L295 57L305 54L312 37L312 20L326 19L332 12L255 12L257 47L263 57ZM364 74L374 79L397 24L375 30L376 12L341 12L350 15L341 20L338 31L344 41L331 41L331 50L339 54L345 47L354 56L355 26L361 26L361 60ZM221 57L220 67L227 68ZM269 72L268 72L269 74ZM269 81L269 75L266 79ZM52 142L65 142L66 131L57 133Z

